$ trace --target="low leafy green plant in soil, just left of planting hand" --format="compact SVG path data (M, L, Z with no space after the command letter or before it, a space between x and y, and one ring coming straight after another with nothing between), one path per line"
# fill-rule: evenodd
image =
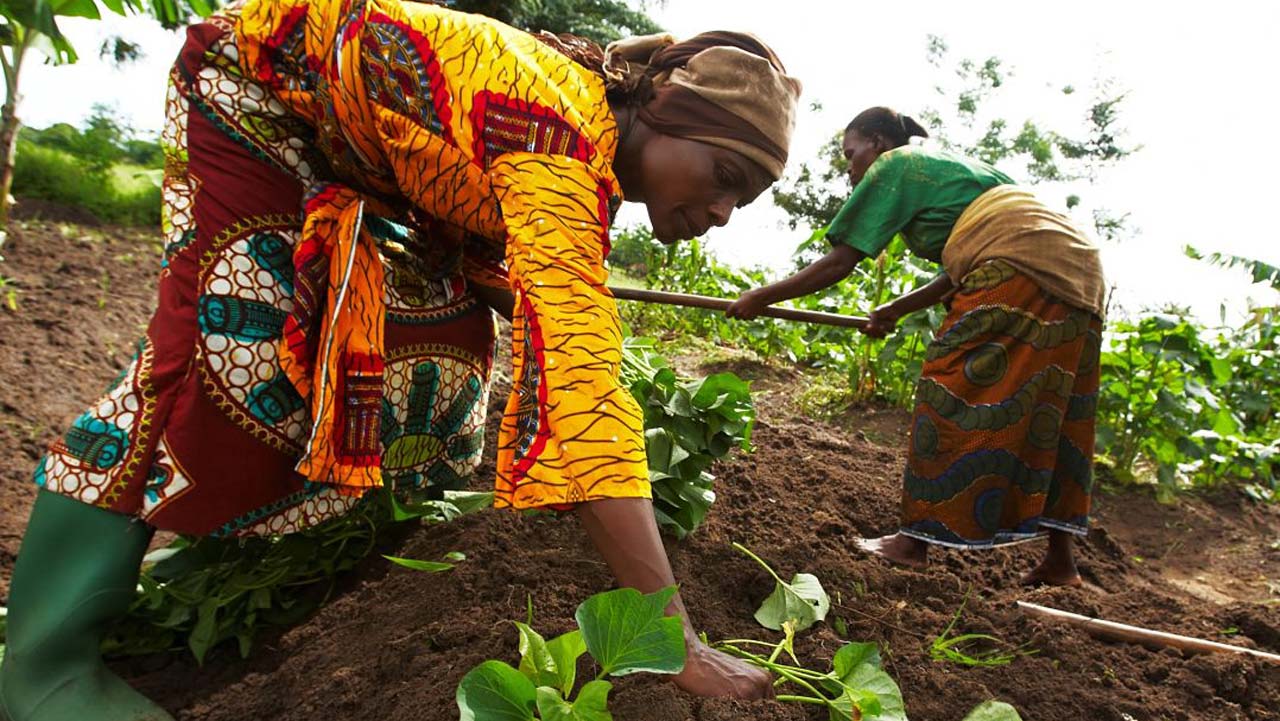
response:
M456 694L462 721L608 721L613 684L607 676L684 670L682 622L666 615L675 594L675 587L650 594L632 588L598 593L577 607L579 628L552 640L517 621L518 668L490 660L468 671ZM573 697L582 653L600 671Z

